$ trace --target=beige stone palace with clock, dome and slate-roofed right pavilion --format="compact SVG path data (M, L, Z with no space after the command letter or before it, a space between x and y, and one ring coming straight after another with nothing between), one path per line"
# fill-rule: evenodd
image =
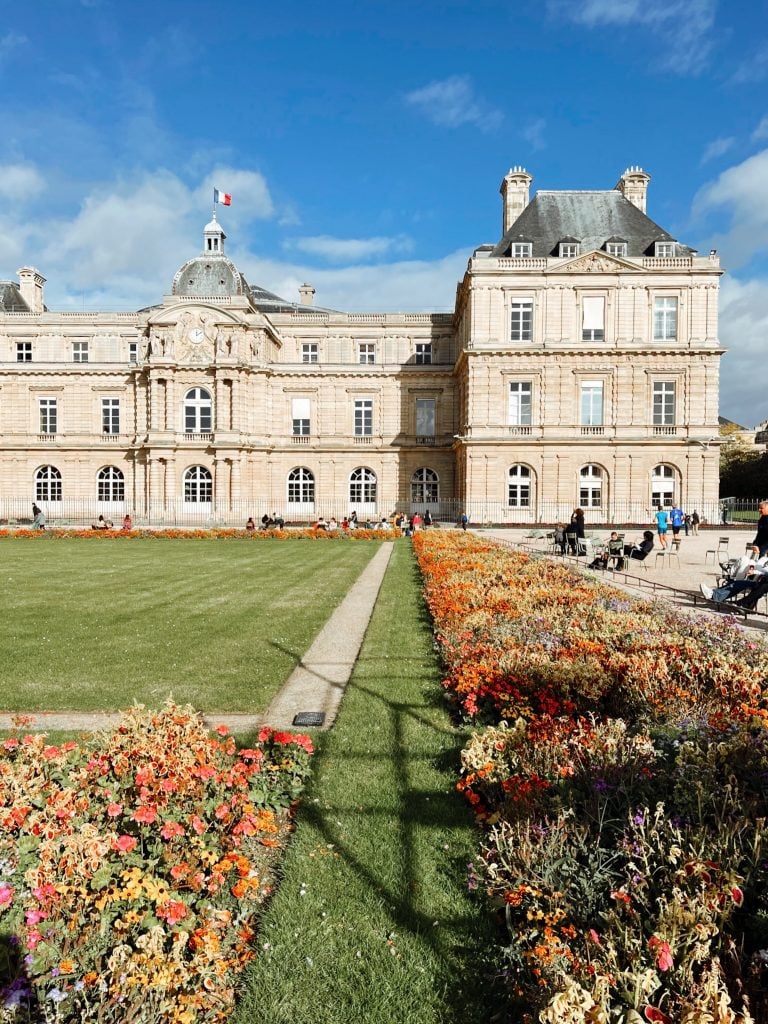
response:
M170 294L52 312L0 282L0 516L234 522L423 510L475 521L716 515L718 286L645 213L649 176L539 191L447 313L344 313L249 285L217 222Z

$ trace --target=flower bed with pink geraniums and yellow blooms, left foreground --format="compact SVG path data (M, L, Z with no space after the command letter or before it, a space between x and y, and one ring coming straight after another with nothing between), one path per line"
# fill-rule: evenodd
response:
M225 1020L311 752L271 729L238 751L170 702L0 743L0 1019Z

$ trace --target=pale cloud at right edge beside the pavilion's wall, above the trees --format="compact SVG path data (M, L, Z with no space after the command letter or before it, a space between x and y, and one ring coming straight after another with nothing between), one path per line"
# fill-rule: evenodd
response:
M720 375L722 416L748 426L768 419L768 390L756 367L765 362L768 280L727 276L720 293L720 340L728 352Z

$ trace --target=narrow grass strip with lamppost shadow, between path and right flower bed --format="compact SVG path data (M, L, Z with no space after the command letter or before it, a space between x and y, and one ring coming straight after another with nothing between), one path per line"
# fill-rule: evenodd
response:
M439 680L419 573L396 545L232 1024L481 1024L499 1010L455 790L466 733Z

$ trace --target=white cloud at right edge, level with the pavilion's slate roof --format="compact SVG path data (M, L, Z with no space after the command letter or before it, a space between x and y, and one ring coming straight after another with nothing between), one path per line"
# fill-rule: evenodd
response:
M724 262L743 266L768 244L768 150L763 150L699 189L693 200L693 217L724 209L730 219L726 232L711 245L720 249Z

